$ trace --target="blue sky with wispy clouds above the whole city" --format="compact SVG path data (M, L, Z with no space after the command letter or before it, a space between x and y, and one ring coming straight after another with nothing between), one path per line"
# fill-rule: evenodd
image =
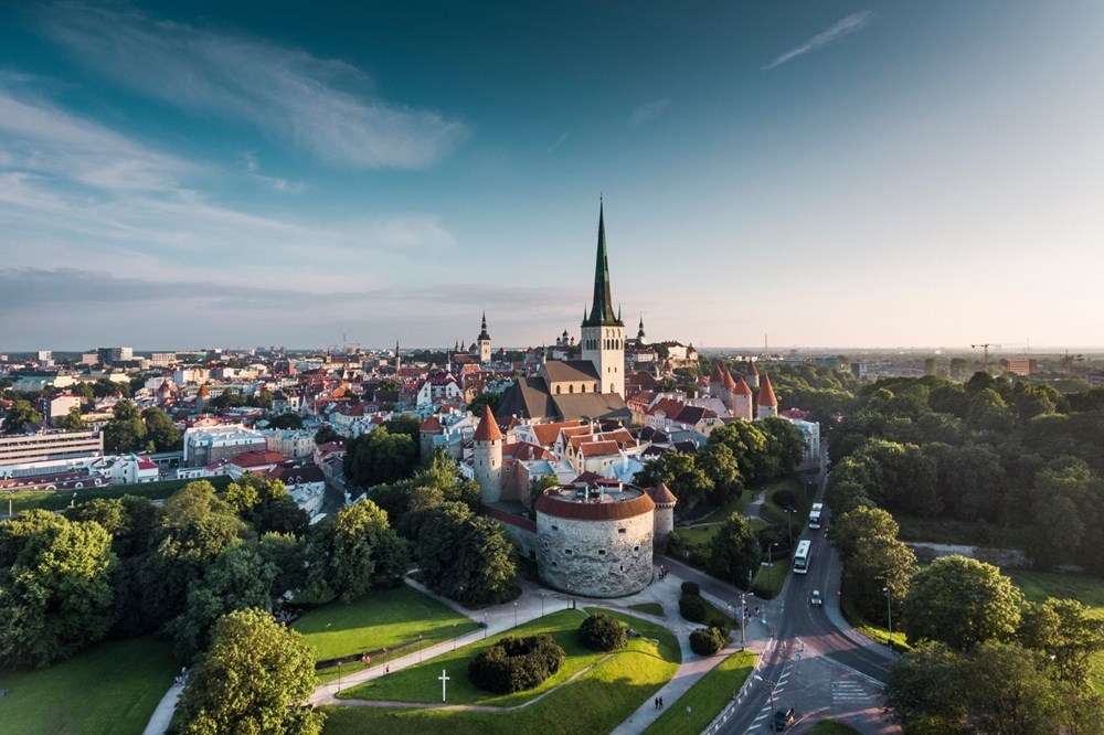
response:
M1104 3L0 3L0 351L1104 344Z

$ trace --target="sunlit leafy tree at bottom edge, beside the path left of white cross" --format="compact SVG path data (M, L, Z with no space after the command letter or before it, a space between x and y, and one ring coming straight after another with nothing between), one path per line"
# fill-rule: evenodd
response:
M192 667L178 712L185 735L317 735L323 715L299 705L315 689L315 652L298 632L257 609L212 629Z

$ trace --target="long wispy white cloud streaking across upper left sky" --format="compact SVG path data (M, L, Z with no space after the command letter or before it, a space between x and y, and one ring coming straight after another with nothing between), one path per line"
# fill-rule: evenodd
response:
M380 99L361 71L298 49L83 3L43 17L51 38L117 83L245 120L331 162L423 169L469 134L436 111Z

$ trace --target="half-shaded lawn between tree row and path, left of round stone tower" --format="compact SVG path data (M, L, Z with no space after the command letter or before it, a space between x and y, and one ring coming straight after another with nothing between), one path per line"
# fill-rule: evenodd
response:
M416 641L418 636L423 636L423 646L428 646L470 633L479 626L453 608L402 585L372 592L348 604L330 603L307 612L291 627L315 647L319 659L331 659L393 648ZM412 650L417 649L407 648L403 654Z

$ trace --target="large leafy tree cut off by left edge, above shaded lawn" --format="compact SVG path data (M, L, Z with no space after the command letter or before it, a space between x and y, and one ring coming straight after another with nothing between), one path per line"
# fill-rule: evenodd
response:
M0 664L44 667L106 636L115 565L98 523L44 510L0 521Z

